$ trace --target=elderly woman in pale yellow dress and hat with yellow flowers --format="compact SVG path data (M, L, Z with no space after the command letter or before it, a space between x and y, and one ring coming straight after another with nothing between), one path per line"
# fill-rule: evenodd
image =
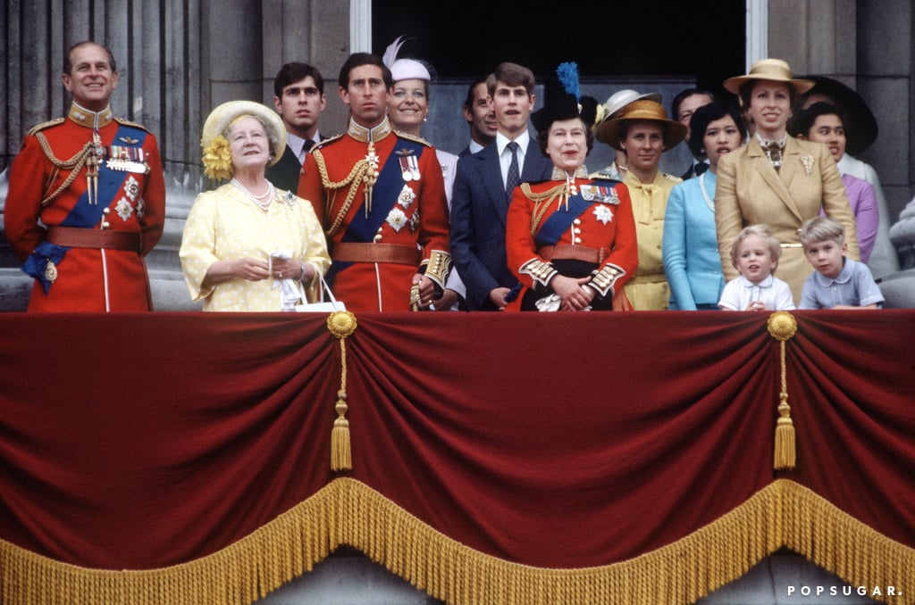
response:
M197 196L188 214L179 256L191 298L204 311L294 311L313 301L328 245L311 204L264 176L285 149L276 112L222 103L200 146L204 174L230 182Z

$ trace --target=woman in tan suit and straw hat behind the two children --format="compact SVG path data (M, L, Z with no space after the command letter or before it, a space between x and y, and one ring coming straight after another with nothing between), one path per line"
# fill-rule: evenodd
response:
M795 302L799 301L811 268L798 232L821 208L845 226L848 254L858 259L855 218L829 149L787 133L791 107L799 94L813 87L813 81L793 80L788 63L764 58L747 75L725 80L724 86L739 96L756 124L748 144L718 163L715 221L725 278L737 277L729 251L740 229L767 225L781 242L778 276L788 282Z

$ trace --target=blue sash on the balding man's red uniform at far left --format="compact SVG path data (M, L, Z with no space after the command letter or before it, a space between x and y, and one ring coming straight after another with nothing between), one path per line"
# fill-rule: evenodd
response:
M145 130L120 124L117 132L114 133L113 141L121 143L122 146L126 147L142 147L145 138ZM125 140L135 141L135 143L125 144ZM111 206L114 197L117 196L118 191L124 186L127 175L130 174L131 173L121 170L112 170L102 161L102 164L99 165L98 175L98 204L91 205L89 203L89 189L87 187L86 191L82 192L76 206L70 210L70 214L67 215L67 218L64 218L60 222L60 226L76 228L95 227L95 225L102 220L104 209ZM51 281L45 276L46 271L48 270L48 261L55 265L59 264L60 260L63 260L64 256L66 256L67 250L69 249L70 248L64 246L52 244L49 241L43 241L38 244L36 249L32 250L32 253L22 265L22 271L38 280L41 283L42 289L47 294L51 287Z

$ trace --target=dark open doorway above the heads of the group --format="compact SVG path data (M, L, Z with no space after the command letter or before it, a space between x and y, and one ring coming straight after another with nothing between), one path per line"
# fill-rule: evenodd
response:
M541 8L540 6L543 6ZM734 0L548 5L493 0L372 2L372 50L411 37L402 56L424 58L442 79L490 72L502 60L538 79L568 60L585 80L676 77L720 91L744 72L746 6Z

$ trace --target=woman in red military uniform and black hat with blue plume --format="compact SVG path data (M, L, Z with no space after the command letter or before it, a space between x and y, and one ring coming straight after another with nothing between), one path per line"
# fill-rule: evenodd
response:
M576 69L559 66L565 94L531 116L554 174L511 196L506 245L522 288L509 310L610 310L638 264L629 191L619 181L587 177L597 101L577 94Z

